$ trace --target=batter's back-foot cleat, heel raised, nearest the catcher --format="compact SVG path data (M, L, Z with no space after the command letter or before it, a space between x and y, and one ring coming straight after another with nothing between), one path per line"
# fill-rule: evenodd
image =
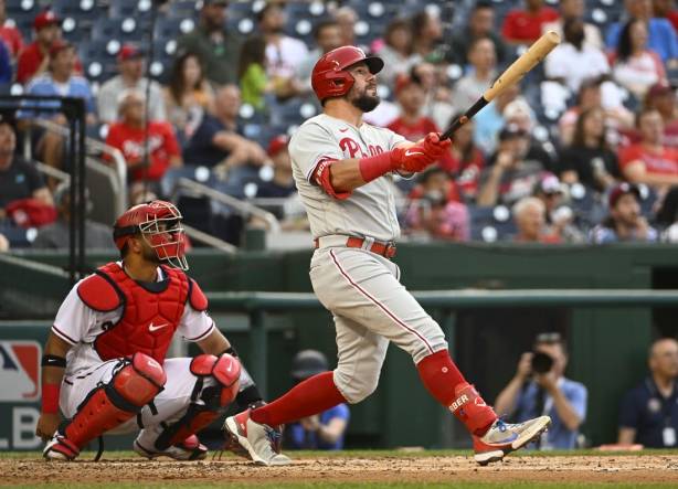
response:
M234 437L256 464L266 466L292 464L289 457L277 453L280 429L253 422L250 412L251 410L247 410L226 417L222 428L226 436Z

